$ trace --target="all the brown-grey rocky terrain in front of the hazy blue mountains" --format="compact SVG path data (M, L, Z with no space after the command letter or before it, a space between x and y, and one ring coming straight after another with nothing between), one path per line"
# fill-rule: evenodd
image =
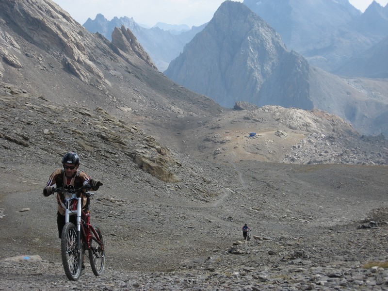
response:
M383 135L318 109L222 107L129 29L109 41L50 0L0 1L0 55L1 290L387 288ZM76 282L42 195L68 151L104 184L105 273Z

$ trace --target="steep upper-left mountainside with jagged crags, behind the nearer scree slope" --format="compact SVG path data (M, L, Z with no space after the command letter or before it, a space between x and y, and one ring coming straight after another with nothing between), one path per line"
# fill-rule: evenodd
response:
M54 102L85 102L107 111L130 108L150 116L220 112L208 97L162 75L129 29L116 28L112 42L88 32L50 0L0 3L0 74L35 96Z

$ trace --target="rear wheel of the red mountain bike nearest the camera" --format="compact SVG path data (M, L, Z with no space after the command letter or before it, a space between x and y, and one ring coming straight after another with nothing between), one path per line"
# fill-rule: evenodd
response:
M105 248L104 241L102 239L102 234L99 226L93 226L96 230L98 238L93 234L90 240L90 249L89 249L89 260L90 266L92 267L93 274L96 276L101 275L105 268ZM98 243L101 242L101 245Z

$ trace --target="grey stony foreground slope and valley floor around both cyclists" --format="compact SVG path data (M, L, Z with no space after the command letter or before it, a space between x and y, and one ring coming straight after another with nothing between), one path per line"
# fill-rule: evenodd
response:
M386 260L387 167L208 163L102 108L57 106L7 84L0 92L5 290L383 290L387 284L384 269L364 267ZM104 231L107 269L96 278L87 266L78 282L65 279L60 263L55 199L41 194L68 150L80 152L81 167L104 183L92 216ZM254 229L252 242L240 241L244 222Z

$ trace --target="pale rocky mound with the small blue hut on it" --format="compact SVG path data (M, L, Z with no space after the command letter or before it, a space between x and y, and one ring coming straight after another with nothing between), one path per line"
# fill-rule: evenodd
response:
M185 148L214 161L388 163L384 136L360 135L338 116L316 109L269 105L216 115L187 132L182 141Z

